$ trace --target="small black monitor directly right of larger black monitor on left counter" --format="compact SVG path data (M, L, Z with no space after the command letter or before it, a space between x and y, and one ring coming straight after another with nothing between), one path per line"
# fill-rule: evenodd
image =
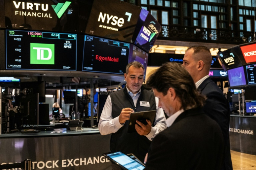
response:
M49 104L39 104L39 124L49 125L50 115L49 115Z

